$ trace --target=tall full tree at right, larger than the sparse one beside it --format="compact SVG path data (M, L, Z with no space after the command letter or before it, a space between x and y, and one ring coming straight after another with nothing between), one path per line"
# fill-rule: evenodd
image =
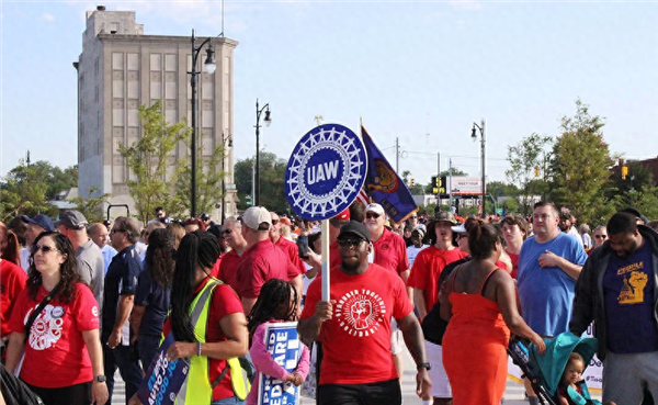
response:
M569 207L580 223L591 222L605 204L612 159L601 128L604 119L592 116L589 105L576 100L576 114L561 119L560 135L553 146L551 195Z

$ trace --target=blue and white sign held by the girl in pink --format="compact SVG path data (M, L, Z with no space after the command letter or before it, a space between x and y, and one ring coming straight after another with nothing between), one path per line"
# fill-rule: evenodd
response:
M265 347L276 364L287 372L295 371L302 356L297 323L266 324L264 339ZM299 387L291 382L260 373L258 386L258 405L294 405L299 402Z

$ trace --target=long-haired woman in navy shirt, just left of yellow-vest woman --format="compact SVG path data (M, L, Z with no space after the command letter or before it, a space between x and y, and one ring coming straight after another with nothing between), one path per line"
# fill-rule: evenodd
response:
M161 228L149 234L146 268L139 273L131 316L133 339L137 340L139 359L145 369L158 352L162 324L169 312L174 266L172 251L173 235L170 232Z

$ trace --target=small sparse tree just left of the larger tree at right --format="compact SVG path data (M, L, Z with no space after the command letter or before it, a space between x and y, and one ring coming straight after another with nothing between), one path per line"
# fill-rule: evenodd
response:
M519 187L515 196L524 214L530 210L532 196L546 192L544 149L552 143L553 138L549 136L533 133L517 145L508 146L510 169L506 170L504 175L512 184Z

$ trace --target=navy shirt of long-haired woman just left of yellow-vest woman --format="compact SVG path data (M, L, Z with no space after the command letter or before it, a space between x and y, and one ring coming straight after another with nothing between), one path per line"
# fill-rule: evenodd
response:
M139 336L159 337L169 312L171 288L160 286L150 275L148 269L139 274L135 305L145 306Z

